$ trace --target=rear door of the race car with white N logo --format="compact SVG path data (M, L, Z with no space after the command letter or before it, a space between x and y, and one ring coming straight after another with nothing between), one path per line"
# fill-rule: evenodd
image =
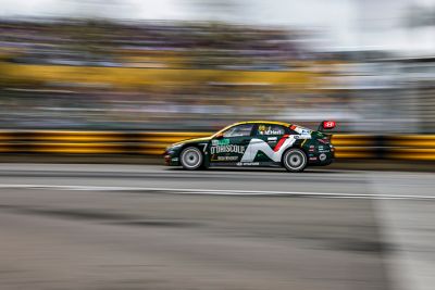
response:
M281 162L279 148L283 144L285 135L289 129L278 124L258 124L253 130L250 144L249 160L245 162L271 163Z

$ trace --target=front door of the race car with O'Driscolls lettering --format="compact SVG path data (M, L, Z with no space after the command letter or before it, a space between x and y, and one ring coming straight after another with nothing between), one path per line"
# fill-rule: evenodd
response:
M253 124L233 126L211 140L210 163L235 165L240 162L251 140Z

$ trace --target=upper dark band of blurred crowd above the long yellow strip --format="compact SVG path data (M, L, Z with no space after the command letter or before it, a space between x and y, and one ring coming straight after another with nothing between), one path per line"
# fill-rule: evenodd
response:
M309 58L303 34L219 23L3 21L17 63L220 70L286 70Z

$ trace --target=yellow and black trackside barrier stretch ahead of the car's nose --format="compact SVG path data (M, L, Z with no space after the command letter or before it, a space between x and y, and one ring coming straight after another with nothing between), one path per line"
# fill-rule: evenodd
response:
M3 153L149 154L158 155L173 143L209 133L125 131L0 131Z

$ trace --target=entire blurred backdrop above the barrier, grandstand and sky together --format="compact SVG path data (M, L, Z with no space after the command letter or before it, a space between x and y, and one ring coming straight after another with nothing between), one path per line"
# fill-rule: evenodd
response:
M1 0L0 127L435 131L435 2Z

